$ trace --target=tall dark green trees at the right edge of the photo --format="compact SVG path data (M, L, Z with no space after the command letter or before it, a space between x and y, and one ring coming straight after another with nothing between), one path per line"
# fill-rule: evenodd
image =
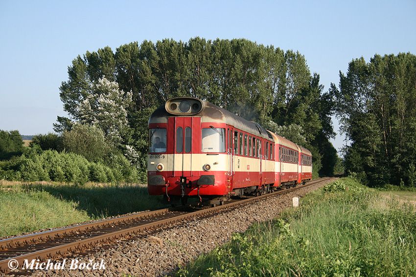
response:
M371 186L416 186L416 56L355 59L339 86L330 91L351 141L346 170Z

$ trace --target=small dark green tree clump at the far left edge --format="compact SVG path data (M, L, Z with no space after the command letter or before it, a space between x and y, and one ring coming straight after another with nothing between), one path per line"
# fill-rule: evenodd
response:
M18 130L0 130L0 160L7 160L23 152L23 140Z

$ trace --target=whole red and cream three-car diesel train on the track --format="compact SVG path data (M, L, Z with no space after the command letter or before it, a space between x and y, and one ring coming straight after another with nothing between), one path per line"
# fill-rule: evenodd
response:
M219 204L312 179L308 149L221 107L169 99L149 119L148 191Z

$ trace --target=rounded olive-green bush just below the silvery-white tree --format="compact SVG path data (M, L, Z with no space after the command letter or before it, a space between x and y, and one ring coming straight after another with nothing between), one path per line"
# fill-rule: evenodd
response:
M79 154L90 162L101 160L109 153L102 130L95 126L75 125L64 132L63 144L68 152Z

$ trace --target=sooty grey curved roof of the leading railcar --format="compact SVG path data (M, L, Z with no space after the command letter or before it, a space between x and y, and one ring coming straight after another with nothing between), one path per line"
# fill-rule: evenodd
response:
M207 101L200 100L194 97L177 97L169 99L168 102L162 107L156 109L153 114L150 116L150 123L167 123L167 117L169 116L189 116L191 114L177 114L167 111L167 104L171 101L181 101L181 100L193 100L199 101L202 104L202 108L199 112L194 112L192 115L201 117L201 122L219 122L226 123L240 130L246 131L248 133L254 134L256 136L265 138L267 140L273 141L272 135L258 123L253 121L248 121L232 112L218 107Z

